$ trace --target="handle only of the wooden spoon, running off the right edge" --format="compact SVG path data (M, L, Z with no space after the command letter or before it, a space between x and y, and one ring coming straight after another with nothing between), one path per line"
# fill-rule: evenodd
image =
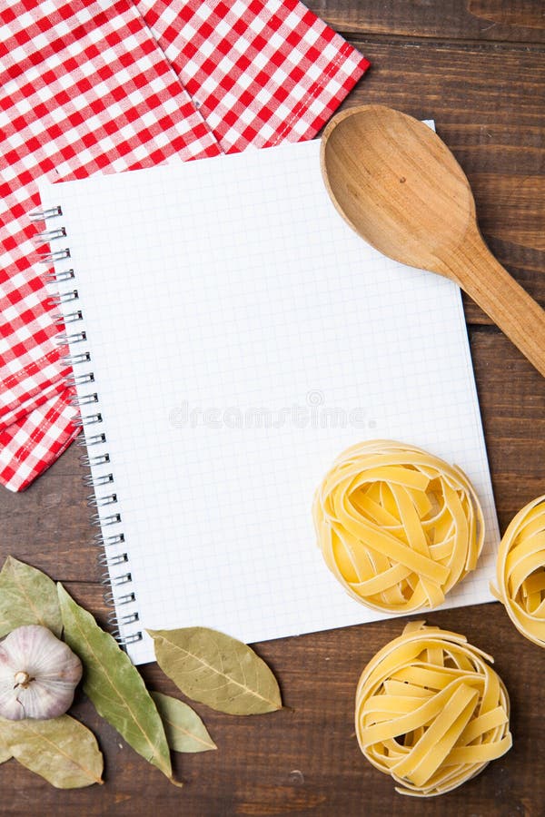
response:
M496 261L479 233L446 261L443 274L459 282L545 377L545 311Z

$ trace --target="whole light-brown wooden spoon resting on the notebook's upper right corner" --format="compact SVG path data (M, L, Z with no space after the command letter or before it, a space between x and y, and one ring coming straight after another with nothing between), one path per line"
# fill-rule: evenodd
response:
M545 376L545 312L492 256L470 184L431 128L382 105L349 108L322 136L332 202L395 261L456 281Z

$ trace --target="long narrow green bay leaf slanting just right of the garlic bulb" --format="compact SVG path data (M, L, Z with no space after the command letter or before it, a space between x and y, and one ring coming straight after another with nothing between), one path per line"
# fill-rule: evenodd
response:
M163 722L128 655L57 585L64 639L84 664L84 693L124 740L173 781Z

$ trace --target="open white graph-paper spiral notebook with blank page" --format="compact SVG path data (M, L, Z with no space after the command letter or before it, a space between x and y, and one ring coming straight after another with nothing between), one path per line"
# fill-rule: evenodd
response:
M315 544L344 448L455 462L499 541L460 290L334 211L319 143L42 185L119 636L204 625L252 643L381 617Z

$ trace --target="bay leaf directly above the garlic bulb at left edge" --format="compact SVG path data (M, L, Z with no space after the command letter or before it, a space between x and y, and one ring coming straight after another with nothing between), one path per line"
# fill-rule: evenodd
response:
M15 627L38 624L60 638L63 620L54 582L13 556L0 573L0 638Z

